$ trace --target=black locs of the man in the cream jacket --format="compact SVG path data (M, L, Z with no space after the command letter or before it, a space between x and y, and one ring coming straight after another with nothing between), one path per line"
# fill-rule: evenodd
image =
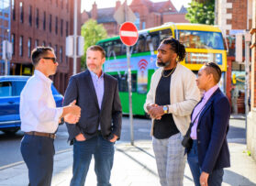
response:
M165 38L161 41L161 44L171 45L173 51L178 55L178 61L183 61L185 58L185 48L179 40L175 38Z

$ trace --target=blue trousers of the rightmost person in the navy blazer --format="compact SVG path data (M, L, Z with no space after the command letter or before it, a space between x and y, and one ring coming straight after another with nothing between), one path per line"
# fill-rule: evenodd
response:
M190 167L190 170L193 175L193 179L195 182L195 186L200 186L200 175L201 168L198 163L198 151L197 151L197 141L193 140L193 146L189 153L187 154L187 161ZM208 177L208 185L209 186L221 186L221 182L223 180L224 170L213 170L213 172Z

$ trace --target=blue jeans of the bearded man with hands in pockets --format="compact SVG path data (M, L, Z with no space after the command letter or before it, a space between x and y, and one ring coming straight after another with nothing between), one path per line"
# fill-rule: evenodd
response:
M111 186L109 180L114 160L114 143L101 135L85 141L74 140L71 186L84 185L93 155L97 186Z

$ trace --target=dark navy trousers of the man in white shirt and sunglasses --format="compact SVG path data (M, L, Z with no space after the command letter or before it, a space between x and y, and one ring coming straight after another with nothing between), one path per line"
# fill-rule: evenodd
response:
M53 139L25 135L21 140L20 151L28 167L30 186L50 186L53 155Z

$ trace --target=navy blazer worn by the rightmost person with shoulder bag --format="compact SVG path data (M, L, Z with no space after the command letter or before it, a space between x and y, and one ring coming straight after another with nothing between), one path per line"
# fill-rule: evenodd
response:
M197 149L202 171L211 173L213 170L230 167L227 141L229 117L228 98L217 89L198 118Z

